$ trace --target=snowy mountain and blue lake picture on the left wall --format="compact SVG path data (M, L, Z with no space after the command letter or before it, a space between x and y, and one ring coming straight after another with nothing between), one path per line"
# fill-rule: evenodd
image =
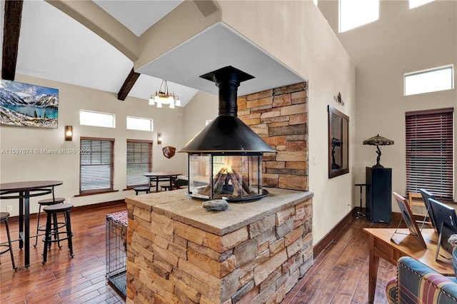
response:
M59 90L0 79L0 125L57 128Z

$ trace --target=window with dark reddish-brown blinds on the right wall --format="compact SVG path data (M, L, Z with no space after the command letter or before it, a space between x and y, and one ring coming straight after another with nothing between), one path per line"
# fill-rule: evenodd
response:
M453 199L453 108L406 112L406 191Z

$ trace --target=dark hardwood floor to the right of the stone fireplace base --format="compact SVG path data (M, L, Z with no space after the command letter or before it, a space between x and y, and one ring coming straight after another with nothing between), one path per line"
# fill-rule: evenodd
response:
M396 228L398 223L370 223L366 218L351 221L314 258L313 266L286 295L282 304L368 303L369 238L363 228ZM379 259L374 303L388 303L386 283L396 275L396 266Z

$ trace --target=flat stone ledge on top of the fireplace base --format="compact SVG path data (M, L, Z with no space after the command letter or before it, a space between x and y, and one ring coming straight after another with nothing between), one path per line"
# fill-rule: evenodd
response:
M216 235L226 235L313 197L312 192L265 188L268 196L257 201L229 203L225 211L206 211L202 200L186 189L126 197L126 203Z

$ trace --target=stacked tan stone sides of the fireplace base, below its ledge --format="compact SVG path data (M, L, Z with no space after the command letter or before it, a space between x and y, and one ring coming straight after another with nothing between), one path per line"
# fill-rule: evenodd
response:
M226 235L127 208L126 303L280 303L313 264L311 198Z

